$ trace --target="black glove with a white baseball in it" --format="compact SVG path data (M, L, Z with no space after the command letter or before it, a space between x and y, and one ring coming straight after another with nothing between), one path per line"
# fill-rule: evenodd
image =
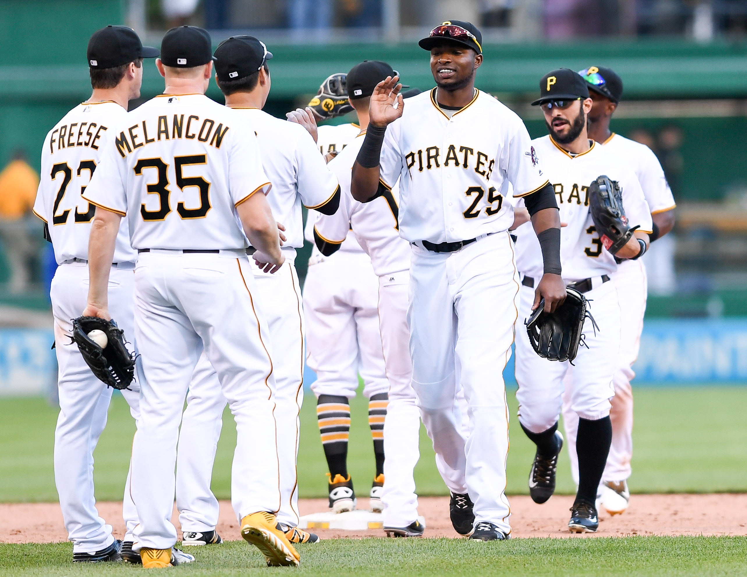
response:
M96 329L103 331L108 339L103 349L88 336ZM78 316L72 321L72 340L78 343L83 360L99 381L120 390L130 386L135 373L135 355L127 350L125 334L116 322L98 316Z

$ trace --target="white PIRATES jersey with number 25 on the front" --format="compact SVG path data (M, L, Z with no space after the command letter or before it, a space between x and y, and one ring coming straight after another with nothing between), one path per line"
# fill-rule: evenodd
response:
M447 116L436 90L407 99L382 146L383 184L391 189L401 177L400 235L443 243L508 230L513 208L506 199L548 183L524 122L480 90Z

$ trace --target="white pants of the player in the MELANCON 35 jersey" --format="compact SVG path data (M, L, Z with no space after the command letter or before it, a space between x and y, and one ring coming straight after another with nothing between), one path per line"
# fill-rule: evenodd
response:
M267 321L244 251L220 255L151 249L135 268L135 336L142 353L140 423L131 493L140 525L134 551L169 549L176 444L187 388L202 351L234 415L231 472L238 520L280 508L275 376Z

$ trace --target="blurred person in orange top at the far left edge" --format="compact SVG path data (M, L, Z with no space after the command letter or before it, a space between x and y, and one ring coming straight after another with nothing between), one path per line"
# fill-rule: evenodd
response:
M39 187L39 176L16 151L10 163L0 172L0 240L10 264L9 288L21 293L31 280L31 258L37 252L37 238L30 234L37 224L31 216ZM36 227L38 229L38 226Z

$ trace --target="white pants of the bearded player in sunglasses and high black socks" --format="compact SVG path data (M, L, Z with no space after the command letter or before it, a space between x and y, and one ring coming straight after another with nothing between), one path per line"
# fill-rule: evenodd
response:
M604 419L610 414L610 399L615 395L613 375L617 368L620 346L620 307L612 281L600 284L586 293L590 319L583 324L584 343L579 345L574 364L569 361L548 361L534 352L530 345L524 319L529 318L534 302L534 289L521 287L518 335L516 337L516 381L518 390L518 420L533 433L551 428L560 418L565 375L573 382L570 405L577 417ZM575 442L568 441L575 448Z

